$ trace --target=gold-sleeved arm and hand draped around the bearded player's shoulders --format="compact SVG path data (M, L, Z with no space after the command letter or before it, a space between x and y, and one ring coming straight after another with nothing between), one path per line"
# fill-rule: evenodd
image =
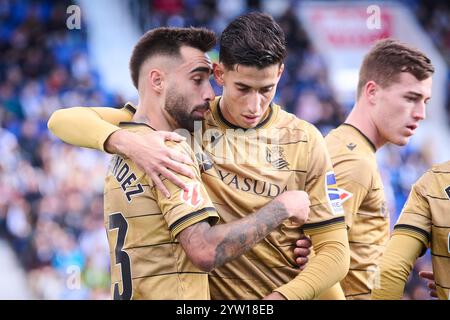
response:
M167 140L181 141L184 137L163 131L140 135L118 127L120 122L131 121L134 113L130 104L122 109L74 107L55 111L47 125L66 143L127 156L169 197L159 175L180 188L184 188L184 184L170 170L193 177L186 165L192 164L190 158L165 145Z

